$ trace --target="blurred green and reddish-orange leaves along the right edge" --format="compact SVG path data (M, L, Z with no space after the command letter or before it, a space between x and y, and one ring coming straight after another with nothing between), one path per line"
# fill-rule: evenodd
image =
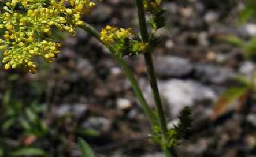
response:
M245 8L239 14L239 24L243 24L246 21L254 18L256 16L256 1L247 0L244 1ZM239 38L238 36L227 36L224 38L225 42L231 43L234 46L242 48L244 51L244 57L250 59L251 61L256 61L256 38L251 38L249 40L244 40ZM255 63L254 63L255 64ZM254 65L255 66L255 65ZM217 100L217 103L214 106L214 111L212 114L212 118L216 119L225 111L228 110L229 106L233 104L233 102L238 103L238 108L241 108L246 99L254 92L255 84L255 74L252 74L251 78L246 78L244 76L236 77L236 80L239 81L242 85L236 85L234 87L230 87L225 90Z

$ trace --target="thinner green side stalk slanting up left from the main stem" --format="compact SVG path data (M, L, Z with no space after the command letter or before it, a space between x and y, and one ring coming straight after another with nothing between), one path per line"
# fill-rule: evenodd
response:
M94 27L92 27L91 25L89 25L87 23L84 23L84 25L81 28L83 28L85 31L90 33L90 35L94 36L95 38L97 38L99 40L99 42L102 43L102 41L100 39L99 32ZM112 54L114 54L114 50L112 48L109 48L109 50L112 52ZM118 64L121 65L121 68L123 69L125 76L128 78L129 82L131 83L132 89L135 92L135 95L138 98L139 103L141 104L144 114L146 114L146 116L148 117L150 124L153 125L154 121L155 121L154 115L153 115L152 111L150 110L149 104L147 104L147 101L144 98L142 91L140 90L140 87L131 72L131 69L129 68L129 66L124 61L123 58L121 58L117 55L114 55L114 58L116 59Z

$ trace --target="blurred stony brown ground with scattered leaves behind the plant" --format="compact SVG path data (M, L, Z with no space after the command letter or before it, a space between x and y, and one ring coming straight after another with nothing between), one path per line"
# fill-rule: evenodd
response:
M185 106L194 119L179 156L256 156L253 3L163 1L166 27L153 57L168 125ZM97 3L84 20L139 31L133 0ZM99 156L163 156L112 54L81 29L54 36L61 54L39 60L36 74L1 70L0 156L80 156L77 137ZM153 106L143 56L125 59Z

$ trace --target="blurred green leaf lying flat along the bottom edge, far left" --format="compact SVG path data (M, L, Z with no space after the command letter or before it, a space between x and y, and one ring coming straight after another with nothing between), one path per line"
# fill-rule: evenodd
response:
M18 148L16 151L13 151L10 156L45 156L46 152L43 151L43 149L40 148Z

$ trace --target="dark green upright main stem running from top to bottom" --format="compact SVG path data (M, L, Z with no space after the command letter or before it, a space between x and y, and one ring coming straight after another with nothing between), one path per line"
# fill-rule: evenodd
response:
M143 1L136 0L136 5L138 8L140 35L142 36L142 41L144 43L148 43L149 33L147 32L147 23L146 23ZM146 53L144 53L144 59L146 61L147 72L149 74L149 81L150 81L150 85L154 95L155 106L157 108L157 115L158 115L159 125L161 128L161 133L162 133L162 142L166 143L168 129L166 125L164 109L162 106L161 97L158 90L157 79L155 77L154 65L153 65L152 55L150 51L146 51ZM165 153L165 156L171 156L170 149L165 148L165 146L164 146L164 153Z

